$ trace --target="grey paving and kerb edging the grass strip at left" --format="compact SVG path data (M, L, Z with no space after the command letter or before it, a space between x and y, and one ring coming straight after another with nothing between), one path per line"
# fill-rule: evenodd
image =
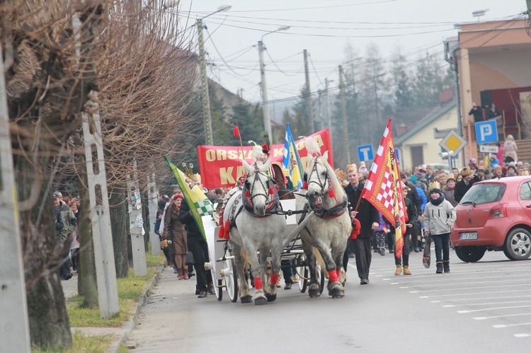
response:
M127 340L127 337L129 337L131 331L133 328L135 328L135 325L138 320L138 315L140 312L140 308L144 305L144 303L147 301L147 293L149 291L152 291L158 282L159 276L161 275L161 272L164 271L164 266L158 267L156 270L156 275L152 279L152 282L148 285L147 289L144 291L142 296L139 297L139 301L137 303L137 306L131 311L130 320L127 320L121 328L70 328L70 331L72 334L74 332L81 332L84 335L95 335L95 336L107 336L112 335L113 336L113 343L110 345L110 348L108 352L118 352L118 348L120 347L120 344L122 342L125 342ZM76 272L72 272L72 278L64 281L61 281L61 286L63 287L63 293L64 293L64 299L68 302L72 296L77 295L77 279L78 274Z

